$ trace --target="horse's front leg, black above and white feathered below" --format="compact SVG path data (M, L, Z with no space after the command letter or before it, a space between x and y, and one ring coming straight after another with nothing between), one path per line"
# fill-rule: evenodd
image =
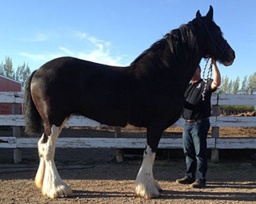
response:
M160 195L161 187L155 181L153 175L153 164L156 155L157 146L163 131L147 130L147 145L143 155L143 162L135 181L135 194L143 198L155 198Z

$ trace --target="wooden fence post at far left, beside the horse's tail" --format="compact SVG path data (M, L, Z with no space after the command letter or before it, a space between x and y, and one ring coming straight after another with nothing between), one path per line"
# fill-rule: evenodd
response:
M12 114L13 115L20 114L18 103L12 104ZM12 136L20 137L20 127L19 126L12 126ZM21 162L21 150L19 148L16 148L13 150L13 161L15 164L18 164Z

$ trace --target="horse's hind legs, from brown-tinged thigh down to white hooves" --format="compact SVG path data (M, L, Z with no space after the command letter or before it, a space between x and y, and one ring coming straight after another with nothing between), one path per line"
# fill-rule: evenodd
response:
M73 195L72 190L61 180L54 163L55 145L68 117L65 118L61 115L62 110L56 110L58 107L51 107L49 97L47 97L42 87L44 87L44 83L41 80L32 79L30 85L31 96L38 113L44 121L44 134L38 142L40 164L35 176L35 184L44 195L50 198L71 196ZM49 118L52 116L49 116L50 111L52 115L58 116L59 121L55 121L55 123L59 127L54 122L50 123Z

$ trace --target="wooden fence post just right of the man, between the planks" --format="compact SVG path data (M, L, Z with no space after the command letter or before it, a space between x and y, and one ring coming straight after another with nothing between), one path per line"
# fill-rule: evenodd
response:
M218 102L217 102L218 104ZM220 106L219 105L212 105L212 116L219 116L220 114ZM219 127L212 127L212 137L215 138L215 145L216 145L216 138L219 136ZM211 161L213 163L218 163L219 161L219 150L212 149L211 151Z

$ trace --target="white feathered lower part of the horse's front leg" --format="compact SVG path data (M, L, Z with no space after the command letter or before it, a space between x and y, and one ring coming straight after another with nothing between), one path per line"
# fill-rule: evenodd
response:
M143 162L135 181L135 194L146 199L160 195L161 188L153 176L154 159L155 153L152 153L151 148L147 145L143 155Z

